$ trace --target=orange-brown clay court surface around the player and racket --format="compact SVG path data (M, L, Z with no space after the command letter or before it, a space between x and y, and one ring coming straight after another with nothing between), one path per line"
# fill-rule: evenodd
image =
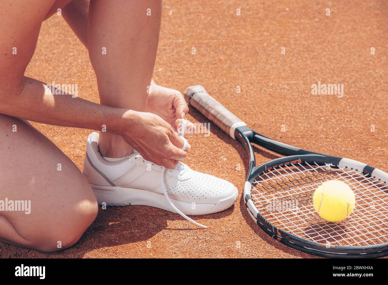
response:
M265 136L388 171L387 15L386 1L165 0L153 79L182 93L201 84ZM99 102L88 52L61 16L43 22L26 76L78 84L79 97ZM343 98L312 95L318 81L343 84ZM210 123L194 109L187 118ZM33 125L82 170L91 130ZM210 136L189 142L186 164L239 190L230 209L194 217L206 230L157 208L108 207L69 249L45 254L0 243L0 257L313 257L276 242L248 215L247 157L237 141L211 124ZM278 156L256 150L257 164Z

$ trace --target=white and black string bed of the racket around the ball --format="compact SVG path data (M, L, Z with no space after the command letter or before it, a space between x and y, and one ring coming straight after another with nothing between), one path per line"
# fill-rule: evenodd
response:
M314 209L314 191L327 180L344 181L355 193L355 209L341 222L326 221ZM310 241L345 246L388 242L388 186L354 169L278 166L253 181L251 199L272 225Z

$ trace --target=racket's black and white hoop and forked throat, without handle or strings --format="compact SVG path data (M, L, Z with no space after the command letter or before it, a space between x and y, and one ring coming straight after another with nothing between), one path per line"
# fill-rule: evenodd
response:
M286 145L263 136L246 126L237 127L234 133L234 137L244 147L244 150L249 156L250 160L243 192L245 207L248 210L251 218L253 218L256 224L260 226L260 228L262 228L265 233L282 244L302 252L314 254L316 256L335 258L364 258L388 255L388 242L369 246L327 245L306 240L304 238L290 234L287 231L284 231L270 223L262 214L260 214L256 206L253 204L253 201L251 200L252 183L258 175L262 174L263 172L267 172L267 169L289 165L290 162L299 162L301 165L317 164L320 166L326 166L327 163L330 163L333 168L339 168L340 164L345 164L348 162L349 165L343 165L345 169L354 169L355 171L361 171L360 169L362 169L362 172L366 177L371 177L375 168L358 161L353 161L351 159L320 154L318 152L311 152ZM261 147L264 147L265 149L287 156L273 159L256 167L255 153L251 143L255 143ZM386 184L386 181L382 182Z

